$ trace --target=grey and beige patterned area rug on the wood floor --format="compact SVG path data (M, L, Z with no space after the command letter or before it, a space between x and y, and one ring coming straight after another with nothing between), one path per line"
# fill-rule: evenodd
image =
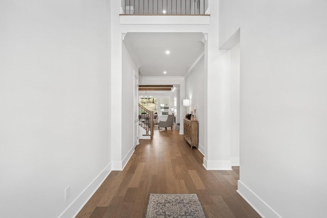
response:
M150 193L146 218L205 218L196 194Z

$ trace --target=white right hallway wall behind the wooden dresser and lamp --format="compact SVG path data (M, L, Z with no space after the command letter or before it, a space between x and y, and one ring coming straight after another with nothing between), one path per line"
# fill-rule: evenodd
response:
M191 100L191 106L196 105L196 117L199 123L199 151L204 153L204 56L191 70L185 79L185 98ZM188 112L190 111L190 107Z

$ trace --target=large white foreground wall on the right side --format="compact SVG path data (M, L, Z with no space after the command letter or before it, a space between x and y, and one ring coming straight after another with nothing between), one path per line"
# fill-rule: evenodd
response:
M264 217L324 217L326 1L220 1L241 28L239 192Z

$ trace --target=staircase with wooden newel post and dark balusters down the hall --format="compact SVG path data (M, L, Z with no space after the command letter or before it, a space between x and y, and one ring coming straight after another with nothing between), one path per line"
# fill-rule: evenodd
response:
M152 139L153 138L153 111L149 111L142 105L138 104L138 138Z

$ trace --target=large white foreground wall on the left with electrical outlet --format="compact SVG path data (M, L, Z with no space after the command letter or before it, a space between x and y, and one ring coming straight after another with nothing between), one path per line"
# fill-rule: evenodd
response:
M107 1L0 2L1 217L72 217L110 172L108 15Z

